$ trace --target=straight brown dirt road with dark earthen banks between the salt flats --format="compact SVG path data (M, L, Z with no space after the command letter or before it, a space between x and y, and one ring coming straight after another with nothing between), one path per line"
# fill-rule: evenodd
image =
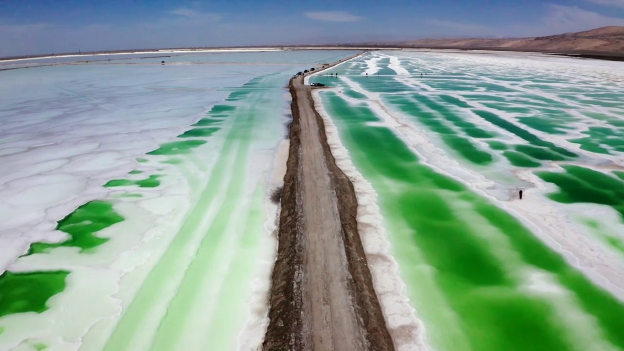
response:
M394 350L311 88L291 79L293 122L263 350Z

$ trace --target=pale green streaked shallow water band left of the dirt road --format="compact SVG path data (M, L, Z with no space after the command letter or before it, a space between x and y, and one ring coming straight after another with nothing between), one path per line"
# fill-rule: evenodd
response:
M232 336L240 328L238 310L248 294L248 282L257 262L258 243L263 240L263 202L265 189L256 187L251 205L238 214L245 196L247 172L252 147L258 139L271 139L273 146L281 133L266 129L276 117L276 108L265 111L266 104L279 107L283 92L278 87L283 76L261 76L252 79L239 91L235 89L227 101L243 99L244 105L217 105L197 125L209 125L215 116L226 117L229 126L221 134L225 139L218 150L217 161L205 184L195 184L198 202L185 217L177 235L150 271L132 303L115 326L104 350L133 350L144 343L150 350L173 350L197 345L227 350ZM252 89L253 88L253 89ZM221 122L221 121L220 121ZM275 122L275 120L273 120ZM216 132L219 128L203 128ZM190 129L195 131L197 129ZM178 137L186 137L189 132ZM193 135L193 136L205 136ZM160 155L180 154L163 150ZM163 149L161 146L160 149ZM213 213L213 220L205 223ZM238 227L240 230L233 230ZM237 248L228 254L229 245ZM231 259L230 259L231 257ZM175 287L173 287L175 285ZM172 292L171 287L175 289ZM154 314L162 310L164 315ZM154 339L144 335L144 319L157 321ZM198 325L205 329L196 330ZM208 344L204 344L208 343Z

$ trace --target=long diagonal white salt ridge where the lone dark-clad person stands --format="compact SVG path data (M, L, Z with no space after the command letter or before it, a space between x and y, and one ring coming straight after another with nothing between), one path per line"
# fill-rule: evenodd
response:
M546 244L560 252L570 264L624 300L624 264L620 257L615 257L613 252L605 250L603 245L592 242L583 235L583 232L561 210L563 205L547 199L546 194L552 192L552 189L534 175L532 170L514 173L520 180L532 186L525 189L522 201L509 200L510 194L515 193L514 188L501 186L461 164L455 157L434 144L426 131L409 122L407 116L401 112L391 111L381 101L379 93L366 91L348 77L341 77L341 80L354 91L367 97L365 101L367 106L411 147L421 162L431 166L436 172L459 180L475 192L491 199L502 209L514 214ZM348 96L342 97L353 104L362 103L361 100L351 99Z

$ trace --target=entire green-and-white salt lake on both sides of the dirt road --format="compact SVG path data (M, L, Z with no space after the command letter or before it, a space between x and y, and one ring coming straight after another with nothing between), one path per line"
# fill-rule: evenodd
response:
M0 72L0 349L260 345L283 87L351 54ZM622 72L383 51L310 77L397 350L624 350Z

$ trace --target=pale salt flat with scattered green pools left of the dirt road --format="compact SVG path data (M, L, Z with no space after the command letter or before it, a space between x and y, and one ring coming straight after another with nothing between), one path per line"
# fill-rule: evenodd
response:
M258 345L283 87L350 54L0 72L0 349Z

